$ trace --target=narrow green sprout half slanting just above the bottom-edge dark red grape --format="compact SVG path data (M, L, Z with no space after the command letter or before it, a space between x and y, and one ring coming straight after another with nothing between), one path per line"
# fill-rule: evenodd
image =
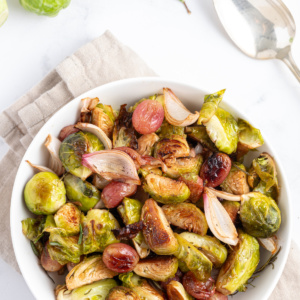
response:
M190 242L175 233L179 247L174 254L183 261L198 280L206 281L210 277L212 262Z

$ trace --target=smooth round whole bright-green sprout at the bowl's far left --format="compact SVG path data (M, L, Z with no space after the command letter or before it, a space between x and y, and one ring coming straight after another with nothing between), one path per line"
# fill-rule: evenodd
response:
M53 214L66 203L64 183L54 173L37 173L27 182L24 199L27 208L34 214Z

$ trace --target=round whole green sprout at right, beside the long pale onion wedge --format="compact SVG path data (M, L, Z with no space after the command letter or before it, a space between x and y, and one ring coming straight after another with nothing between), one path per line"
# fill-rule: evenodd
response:
M241 196L240 219L248 234L267 238L279 229L281 213L272 198L252 192Z

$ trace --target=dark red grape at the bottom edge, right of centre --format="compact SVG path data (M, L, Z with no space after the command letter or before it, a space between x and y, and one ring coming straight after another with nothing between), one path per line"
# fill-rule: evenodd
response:
M191 296L201 300L209 299L216 289L215 281L212 278L207 281L200 281L191 271L183 276L182 284Z

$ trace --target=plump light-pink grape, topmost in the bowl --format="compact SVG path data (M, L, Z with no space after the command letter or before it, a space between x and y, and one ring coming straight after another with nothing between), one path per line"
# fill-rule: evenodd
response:
M155 100L141 102L133 112L132 125L140 134L155 132L164 120L164 108Z

